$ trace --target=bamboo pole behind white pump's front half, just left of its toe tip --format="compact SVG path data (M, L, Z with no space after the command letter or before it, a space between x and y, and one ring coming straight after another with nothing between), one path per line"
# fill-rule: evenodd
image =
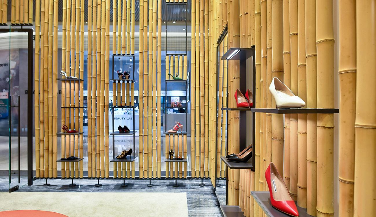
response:
M291 71L290 71L290 89L293 93L298 91L298 2L297 0L290 0L290 45L291 45ZM290 195L294 200L297 200L297 177L298 177L298 115L291 114L290 116Z

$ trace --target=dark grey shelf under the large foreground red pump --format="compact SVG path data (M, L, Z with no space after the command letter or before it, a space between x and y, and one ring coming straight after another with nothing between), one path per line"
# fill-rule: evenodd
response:
M251 195L253 198L255 198L256 202L260 205L268 217L290 217L290 215L287 215L271 206L269 191L251 191ZM312 215L307 214L307 209L299 206L296 207L298 208L299 217L312 217Z

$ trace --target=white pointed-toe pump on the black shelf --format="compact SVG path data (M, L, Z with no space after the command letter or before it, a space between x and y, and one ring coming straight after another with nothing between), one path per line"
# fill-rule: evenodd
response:
M276 100L277 108L301 108L305 106L305 102L299 96L295 96L277 77L273 77L273 80L271 80L269 91Z

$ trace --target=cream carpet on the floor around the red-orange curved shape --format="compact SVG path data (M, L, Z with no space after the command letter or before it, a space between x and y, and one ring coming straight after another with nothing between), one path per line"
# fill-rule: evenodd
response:
M0 211L37 209L70 217L188 217L186 193L0 192Z

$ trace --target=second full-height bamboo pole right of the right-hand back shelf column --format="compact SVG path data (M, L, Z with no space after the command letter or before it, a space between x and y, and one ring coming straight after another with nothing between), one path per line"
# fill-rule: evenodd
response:
M195 29L196 29L196 41L195 41L195 45L196 45L196 60L195 60L195 71L196 71L196 76L195 76L195 93L196 93L196 96L195 96L195 101L196 101L196 105L195 105L195 109L194 111L196 112L195 116L196 116L196 176L195 177L200 177L200 35L199 35L199 28L200 28L200 2L199 0L196 0L196 24L195 24Z

